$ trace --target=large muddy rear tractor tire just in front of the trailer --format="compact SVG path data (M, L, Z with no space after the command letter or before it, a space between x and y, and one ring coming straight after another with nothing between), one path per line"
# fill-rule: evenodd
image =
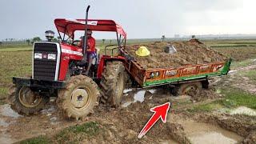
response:
M122 102L123 90L126 83L126 71L122 62L107 62L102 73L101 102L118 108Z

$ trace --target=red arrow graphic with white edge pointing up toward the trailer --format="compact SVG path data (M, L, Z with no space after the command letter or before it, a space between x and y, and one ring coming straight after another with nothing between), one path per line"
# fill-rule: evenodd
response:
M155 106L150 109L151 112L154 112L150 120L143 127L142 131L138 134L138 138L142 138L152 126L154 126L155 122L158 122L158 119L161 118L162 122L166 123L166 118L168 111L170 109L170 102L166 102L163 105Z

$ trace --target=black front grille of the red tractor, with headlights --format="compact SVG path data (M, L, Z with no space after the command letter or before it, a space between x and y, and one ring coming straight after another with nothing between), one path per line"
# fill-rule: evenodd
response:
M48 81L57 80L55 77L57 75L58 78L59 64L57 45L57 43L50 42L37 42L34 44L34 79ZM50 58L49 54L55 54L55 59Z

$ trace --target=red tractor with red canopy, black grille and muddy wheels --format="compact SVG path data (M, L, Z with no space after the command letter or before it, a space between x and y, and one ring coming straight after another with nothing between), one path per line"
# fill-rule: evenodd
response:
M13 110L19 114L37 114L50 97L57 97L59 109L68 118L79 119L90 114L99 101L114 107L120 105L126 81L122 62L126 57L101 55L97 50L89 74L85 74L88 59L82 60L87 54L87 30L114 32L118 52L126 43L126 32L112 20L88 19L88 11L89 7L86 19L55 19L61 42L51 42L50 31L46 32L48 42L34 42L32 77L13 78L15 86L10 88L9 97ZM85 32L82 48L74 40L79 31Z

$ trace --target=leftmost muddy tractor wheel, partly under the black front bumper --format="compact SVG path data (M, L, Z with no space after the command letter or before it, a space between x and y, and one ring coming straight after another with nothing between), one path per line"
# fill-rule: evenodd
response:
M49 97L42 97L27 86L11 86L9 89L10 108L18 114L26 116L38 114L49 100Z

